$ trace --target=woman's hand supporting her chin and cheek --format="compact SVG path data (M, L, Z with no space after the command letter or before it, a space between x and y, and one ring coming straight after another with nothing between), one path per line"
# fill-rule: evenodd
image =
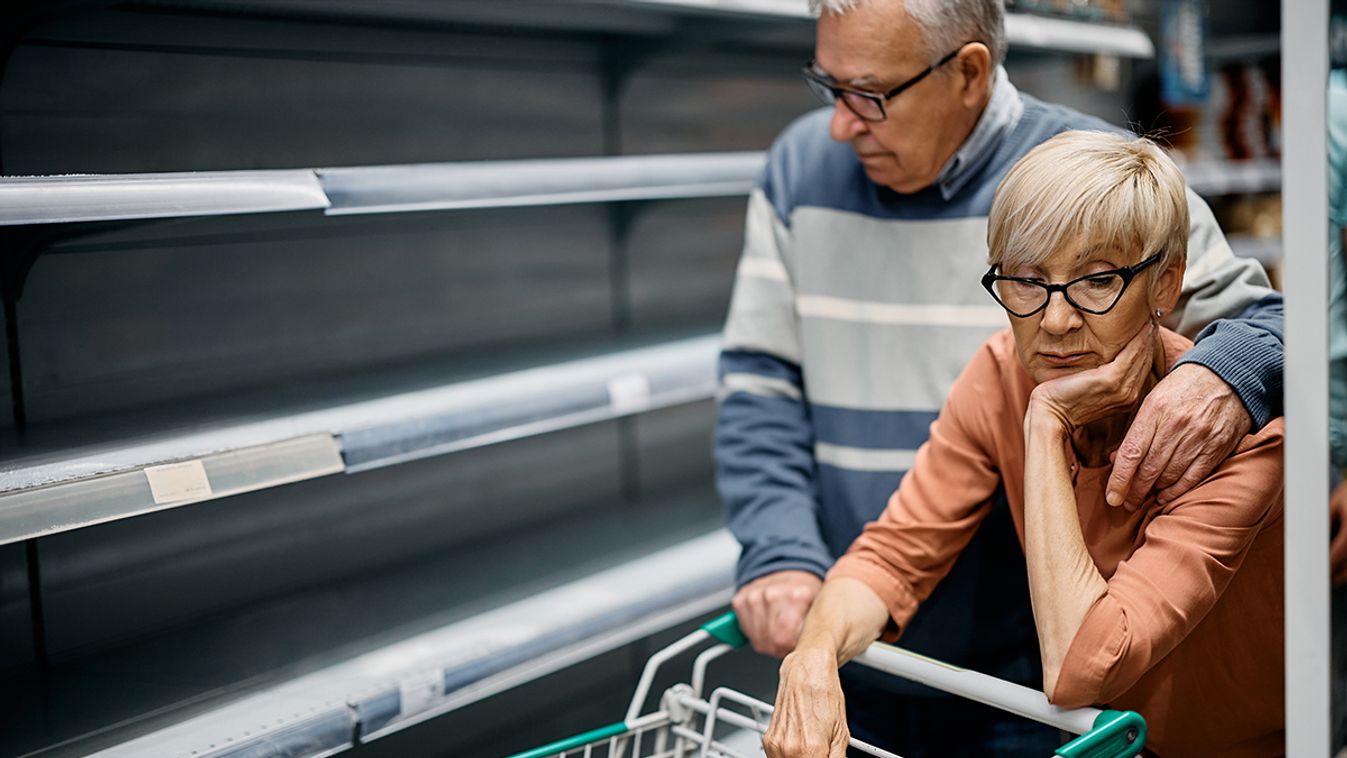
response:
M1157 331L1156 323L1148 322L1113 361L1036 386L1029 396L1025 432L1034 423L1053 420L1070 435L1086 424L1133 409L1150 374Z

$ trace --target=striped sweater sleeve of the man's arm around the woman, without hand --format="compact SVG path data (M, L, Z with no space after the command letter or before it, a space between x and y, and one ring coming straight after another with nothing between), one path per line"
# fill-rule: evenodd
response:
M1188 271L1165 326L1196 345L1179 362L1197 364L1224 380L1261 429L1281 415L1281 295L1258 261L1230 250L1211 209L1188 190Z

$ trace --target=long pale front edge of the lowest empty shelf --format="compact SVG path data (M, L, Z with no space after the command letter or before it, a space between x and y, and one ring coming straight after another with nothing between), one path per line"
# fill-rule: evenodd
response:
M738 544L713 532L271 687L94 755L319 755L723 607ZM334 724L345 724L341 734Z

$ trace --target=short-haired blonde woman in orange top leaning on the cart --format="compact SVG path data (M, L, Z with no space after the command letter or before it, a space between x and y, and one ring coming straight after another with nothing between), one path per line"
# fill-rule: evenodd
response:
M1052 703L1138 711L1158 755L1284 751L1282 421L1172 502L1105 501L1127 421L1191 346L1158 326L1187 237L1183 176L1148 140L1067 132L1006 175L982 284L1010 329L828 574L781 664L769 755L845 754L838 666L897 640L1006 501Z

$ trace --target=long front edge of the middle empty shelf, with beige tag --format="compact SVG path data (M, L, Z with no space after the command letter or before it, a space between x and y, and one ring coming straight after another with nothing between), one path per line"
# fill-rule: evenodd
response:
M32 429L0 463L0 544L706 400L717 353L718 337L704 335L541 366L477 366L470 378L449 366L381 374L345 401L298 408L259 396L257 408L236 411L241 423L166 409ZM120 436L82 444L108 429Z

